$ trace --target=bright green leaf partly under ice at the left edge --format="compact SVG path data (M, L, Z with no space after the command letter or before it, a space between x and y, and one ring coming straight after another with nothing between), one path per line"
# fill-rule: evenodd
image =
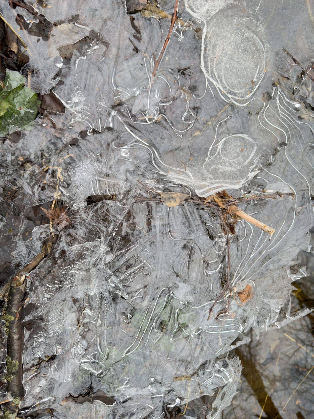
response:
M28 127L36 119L40 103L37 93L25 87L25 78L7 70L4 88L0 89L0 136Z

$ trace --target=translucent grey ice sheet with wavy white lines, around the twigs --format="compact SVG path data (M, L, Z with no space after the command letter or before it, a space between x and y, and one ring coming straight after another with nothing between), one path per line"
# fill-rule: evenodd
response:
M17 11L31 25L44 15L51 31L45 40L18 32L30 57L22 73L38 93L54 88L65 113L39 116L1 145L3 187L17 191L1 214L3 234L13 227L5 261L21 269L57 238L27 283L20 414L164 418L181 406L196 418L186 403L223 386L206 412L217 419L241 374L230 351L250 328L281 326L289 267L309 246L313 17L305 2L181 1L154 75L174 1L160 1L164 14L132 15L121 0L26 3L37 14L9 3L1 13L15 30ZM140 202L158 195L138 180L189 197L293 192L241 205L275 234L237 222L229 313L219 315L223 295L207 320L226 270L217 213ZM35 225L55 199L67 221ZM247 285L253 297L242 304ZM75 403L88 391L106 401Z

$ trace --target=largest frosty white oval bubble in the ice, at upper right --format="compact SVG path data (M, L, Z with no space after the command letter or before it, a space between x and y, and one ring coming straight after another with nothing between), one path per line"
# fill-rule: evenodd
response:
M202 53L206 75L234 101L250 98L263 79L265 49L244 19L214 16L208 21Z

